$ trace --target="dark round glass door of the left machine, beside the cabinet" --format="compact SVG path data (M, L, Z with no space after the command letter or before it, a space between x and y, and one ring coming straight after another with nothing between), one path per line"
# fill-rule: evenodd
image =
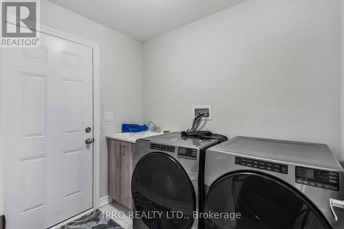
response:
M191 228L195 190L173 157L163 153L142 157L133 171L131 193L136 211L148 228Z

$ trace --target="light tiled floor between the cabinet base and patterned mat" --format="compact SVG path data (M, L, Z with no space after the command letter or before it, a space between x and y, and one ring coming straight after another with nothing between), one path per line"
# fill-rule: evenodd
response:
M122 228L124 229L132 229L133 228L133 219L128 217L129 210L127 208L124 208L120 206L120 204L117 204L116 202L112 202L111 204L107 204L101 208L99 208L102 212L114 212L113 214L116 215L115 217L108 217L112 220L116 221ZM119 214L118 212L124 212L125 215ZM106 215L105 215L106 216Z

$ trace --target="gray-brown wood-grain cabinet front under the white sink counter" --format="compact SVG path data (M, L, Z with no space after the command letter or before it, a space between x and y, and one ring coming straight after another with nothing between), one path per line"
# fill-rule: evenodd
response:
M135 144L108 138L107 149L109 149L109 196L132 209L131 175L133 174L132 158Z

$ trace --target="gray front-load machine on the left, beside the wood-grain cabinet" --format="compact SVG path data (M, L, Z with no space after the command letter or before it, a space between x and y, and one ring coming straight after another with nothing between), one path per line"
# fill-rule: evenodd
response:
M204 199L204 154L218 143L179 132L136 141L131 179L134 229L199 228L193 214Z

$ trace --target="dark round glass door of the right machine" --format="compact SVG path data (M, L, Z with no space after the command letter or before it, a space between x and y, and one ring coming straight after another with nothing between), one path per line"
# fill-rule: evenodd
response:
M260 173L233 173L217 180L206 195L206 212L222 214L205 214L206 229L330 228L321 212L301 193Z

